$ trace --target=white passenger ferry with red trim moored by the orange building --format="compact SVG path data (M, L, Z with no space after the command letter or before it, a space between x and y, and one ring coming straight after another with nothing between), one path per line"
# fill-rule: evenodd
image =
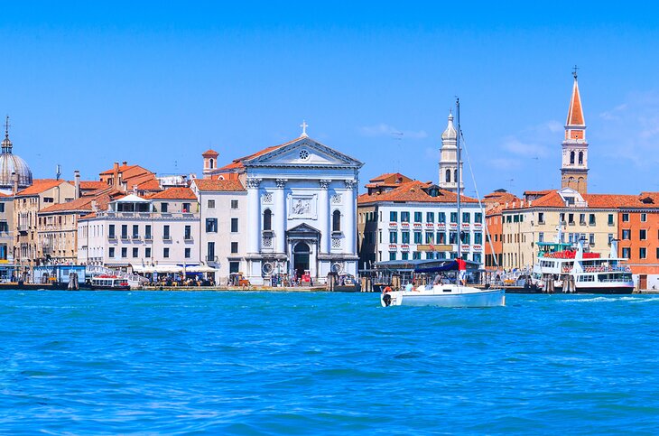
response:
M560 235L560 233L559 233ZM560 237L559 237L560 240ZM534 265L534 284L542 292L632 293L634 280L627 259L617 257L611 241L608 257L561 242L537 243L540 251Z

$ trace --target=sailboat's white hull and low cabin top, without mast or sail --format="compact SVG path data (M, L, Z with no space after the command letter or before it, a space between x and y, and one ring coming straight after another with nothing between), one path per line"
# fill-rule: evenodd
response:
M482 290L459 284L419 286L416 291L382 293L380 302L386 306L497 307L506 305L503 289Z

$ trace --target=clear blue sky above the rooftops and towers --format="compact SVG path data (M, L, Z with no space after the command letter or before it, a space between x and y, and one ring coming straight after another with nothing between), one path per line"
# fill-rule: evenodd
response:
M436 181L458 95L481 195L559 188L578 64L589 191L659 190L651 2L134 3L3 5L0 114L35 177L115 161L200 174L208 148L229 162L305 119L366 163L361 185Z

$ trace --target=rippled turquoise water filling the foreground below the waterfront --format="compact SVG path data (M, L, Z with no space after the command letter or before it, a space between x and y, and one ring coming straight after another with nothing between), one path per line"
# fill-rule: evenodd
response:
M3 434L659 432L659 296L0 292Z

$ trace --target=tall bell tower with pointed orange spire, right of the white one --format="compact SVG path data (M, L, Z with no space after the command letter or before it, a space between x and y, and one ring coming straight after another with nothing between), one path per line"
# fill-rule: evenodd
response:
M588 190L588 142L576 66L572 76L574 84L565 122L565 140L562 142L561 187L585 194Z

